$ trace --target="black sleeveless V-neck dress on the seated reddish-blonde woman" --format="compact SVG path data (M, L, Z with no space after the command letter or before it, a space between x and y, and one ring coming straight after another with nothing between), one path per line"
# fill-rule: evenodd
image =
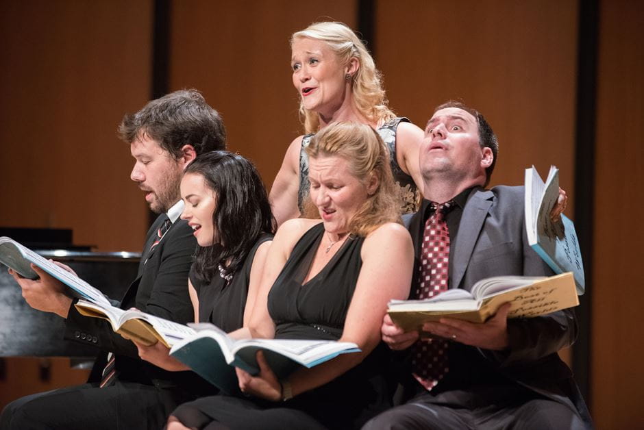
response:
M275 338L338 340L354 294L364 238L349 238L330 262L302 283L324 234L319 223L297 242L269 292ZM391 407L386 349L380 344L362 363L290 401L269 402L219 394L187 403L197 420L175 414L188 427L221 422L230 429L356 429ZM182 406L184 407L184 406ZM186 411L188 412L188 411Z

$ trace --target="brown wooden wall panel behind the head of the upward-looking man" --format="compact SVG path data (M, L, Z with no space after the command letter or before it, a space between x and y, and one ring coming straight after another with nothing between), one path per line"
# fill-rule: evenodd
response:
M576 1L376 4L377 64L396 112L423 128L436 105L462 99L499 138L493 184L522 184L524 168L546 175L556 164L571 192Z

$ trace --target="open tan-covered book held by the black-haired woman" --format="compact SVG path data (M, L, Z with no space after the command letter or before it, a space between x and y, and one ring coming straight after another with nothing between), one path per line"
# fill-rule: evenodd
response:
M156 344L159 341L170 348L179 340L196 333L195 330L186 325L159 318L137 309L124 311L109 304L99 305L86 300L79 300L75 306L80 314L108 320L112 325L112 330L116 333L147 346Z

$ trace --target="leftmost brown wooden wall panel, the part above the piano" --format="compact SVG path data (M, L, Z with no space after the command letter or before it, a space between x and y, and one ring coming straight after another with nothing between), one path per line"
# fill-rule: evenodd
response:
M138 251L147 210L116 126L149 99L151 1L3 1L0 40L0 225Z

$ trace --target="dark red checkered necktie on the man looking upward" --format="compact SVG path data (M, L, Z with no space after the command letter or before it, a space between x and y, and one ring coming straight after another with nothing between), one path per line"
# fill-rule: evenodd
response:
M419 283L416 289L418 299L430 297L447 290L449 276L449 229L445 222L445 212L454 205L448 201L439 205L432 202L434 214L425 223ZM447 348L443 338L425 338L412 345L412 370L414 378L432 390L449 371Z

